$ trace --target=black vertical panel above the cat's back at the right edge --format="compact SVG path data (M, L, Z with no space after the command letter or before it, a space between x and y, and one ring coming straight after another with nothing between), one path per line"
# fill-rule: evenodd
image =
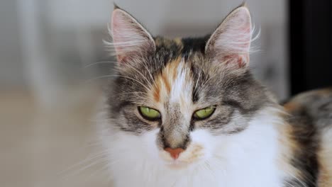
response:
M330 0L289 1L291 94L332 85Z

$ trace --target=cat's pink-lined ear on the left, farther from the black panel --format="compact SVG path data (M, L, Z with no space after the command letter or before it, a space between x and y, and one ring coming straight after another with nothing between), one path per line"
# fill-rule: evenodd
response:
M118 6L111 18L111 36L118 62L126 62L155 51L155 41L138 21Z

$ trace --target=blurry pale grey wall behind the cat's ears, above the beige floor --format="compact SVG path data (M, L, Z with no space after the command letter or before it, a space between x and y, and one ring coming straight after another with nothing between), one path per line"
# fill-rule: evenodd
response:
M118 0L153 35L211 33L242 0ZM288 96L287 4L248 0L260 39L251 67L279 98ZM0 2L0 87L31 90L40 101L66 96L68 88L111 72L102 39L108 39L109 0L5 0ZM53 102L53 101L52 101Z

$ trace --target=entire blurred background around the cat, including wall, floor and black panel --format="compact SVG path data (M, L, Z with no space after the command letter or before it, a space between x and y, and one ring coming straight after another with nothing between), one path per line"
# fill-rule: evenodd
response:
M242 0L116 4L153 35L211 33ZM331 85L331 2L248 0L260 38L255 76L280 101ZM0 1L0 186L108 186L95 137L114 59L110 0Z

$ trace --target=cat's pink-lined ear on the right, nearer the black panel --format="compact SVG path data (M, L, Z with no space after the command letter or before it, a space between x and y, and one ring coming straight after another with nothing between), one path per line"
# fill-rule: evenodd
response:
M247 7L233 10L206 43L205 52L220 63L246 67L249 62L251 18Z

